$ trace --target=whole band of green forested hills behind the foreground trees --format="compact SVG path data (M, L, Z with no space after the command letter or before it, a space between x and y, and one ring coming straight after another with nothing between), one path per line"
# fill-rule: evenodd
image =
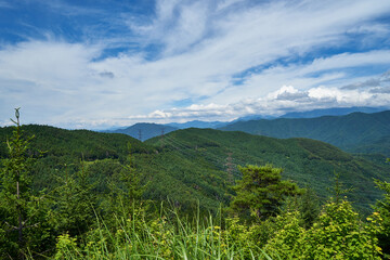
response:
M374 165L329 144L309 139L278 140L244 132L211 129L178 130L144 143L125 134L98 133L87 130L63 130L46 126L24 126L27 135L35 134L31 154L47 151L32 171L34 187L53 188L56 179L82 167L89 171L96 193L108 192L108 183L120 182L117 173L131 150L131 164L146 184L144 198L168 197L182 208L216 209L227 205L234 180L240 178L237 166L273 164L284 168L283 177L302 187L313 188L321 197L330 195L334 172L347 187L356 207L368 211L379 198L373 178L385 179L390 167ZM0 128L1 157L10 128ZM84 164L80 162L83 159Z

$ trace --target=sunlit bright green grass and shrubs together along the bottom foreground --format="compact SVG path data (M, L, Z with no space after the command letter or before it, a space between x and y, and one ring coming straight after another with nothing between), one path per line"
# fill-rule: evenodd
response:
M361 222L351 205L329 202L318 221L306 230L299 211L284 211L272 219L272 235L259 243L259 225L239 223L237 218L214 223L211 217L190 222L164 211L147 221L142 208L131 218L116 218L114 229L104 221L91 230L80 245L60 236L56 256L65 259L380 259L375 237L379 219L374 213ZM168 217L170 216L170 217ZM268 222L268 223L266 223Z

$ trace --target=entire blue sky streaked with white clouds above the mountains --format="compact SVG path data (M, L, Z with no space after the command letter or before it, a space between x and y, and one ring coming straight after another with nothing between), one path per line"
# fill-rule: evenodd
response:
M390 107L389 0L0 0L0 126Z

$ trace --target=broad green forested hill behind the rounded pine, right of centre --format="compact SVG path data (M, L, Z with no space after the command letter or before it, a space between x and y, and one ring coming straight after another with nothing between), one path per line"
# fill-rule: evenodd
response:
M146 143L162 145L169 153L177 152L192 160L202 158L203 162L221 171L227 171L227 162L231 162L234 170L227 177L230 179L240 178L236 170L238 165L273 164L285 169L284 178L313 188L322 197L330 195L327 188L333 185L334 172L338 172L341 181L354 188L349 196L361 209L369 209L369 204L379 195L373 178L390 173L390 167L385 164L375 165L333 145L309 139L278 140L243 132L186 129Z

